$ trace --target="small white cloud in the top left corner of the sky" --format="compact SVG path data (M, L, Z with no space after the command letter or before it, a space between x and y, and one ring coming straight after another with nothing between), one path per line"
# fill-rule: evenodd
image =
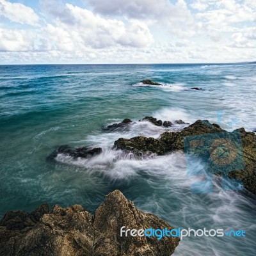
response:
M20 24L28 24L36 26L39 17L33 11L33 9L20 3L10 3L5 0L0 0L0 17L6 17L7 19Z

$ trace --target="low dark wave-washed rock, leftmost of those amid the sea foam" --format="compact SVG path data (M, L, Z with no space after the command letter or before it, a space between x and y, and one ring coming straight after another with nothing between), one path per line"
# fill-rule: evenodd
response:
M58 154L67 154L72 157L92 157L102 153L102 148L88 148L88 147L79 147L79 148L71 148L68 145L63 145L54 150L48 159L54 159Z

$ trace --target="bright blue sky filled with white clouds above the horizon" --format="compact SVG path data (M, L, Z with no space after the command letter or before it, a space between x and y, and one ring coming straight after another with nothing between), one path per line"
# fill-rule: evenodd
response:
M0 0L0 64L256 61L256 0Z

